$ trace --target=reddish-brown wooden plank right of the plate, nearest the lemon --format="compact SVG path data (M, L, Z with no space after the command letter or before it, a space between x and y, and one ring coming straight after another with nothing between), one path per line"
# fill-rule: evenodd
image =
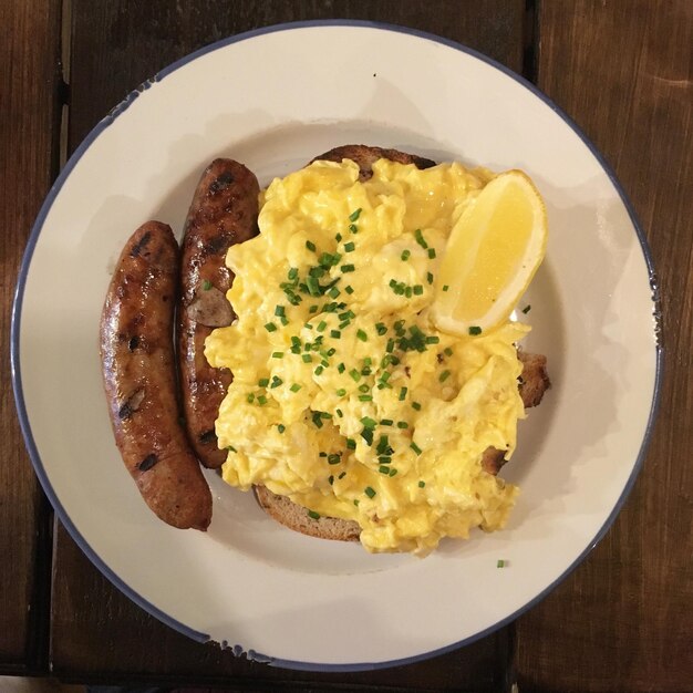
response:
M642 475L589 559L517 623L519 689L691 691L693 12L689 0L541 3L538 83L616 168L654 255L662 406Z

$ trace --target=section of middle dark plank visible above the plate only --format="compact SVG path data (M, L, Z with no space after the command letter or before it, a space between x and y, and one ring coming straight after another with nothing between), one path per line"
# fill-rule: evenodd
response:
M226 37L289 21L362 19L413 27L523 69L525 0L117 0L73 2L70 142L74 146L162 68Z

